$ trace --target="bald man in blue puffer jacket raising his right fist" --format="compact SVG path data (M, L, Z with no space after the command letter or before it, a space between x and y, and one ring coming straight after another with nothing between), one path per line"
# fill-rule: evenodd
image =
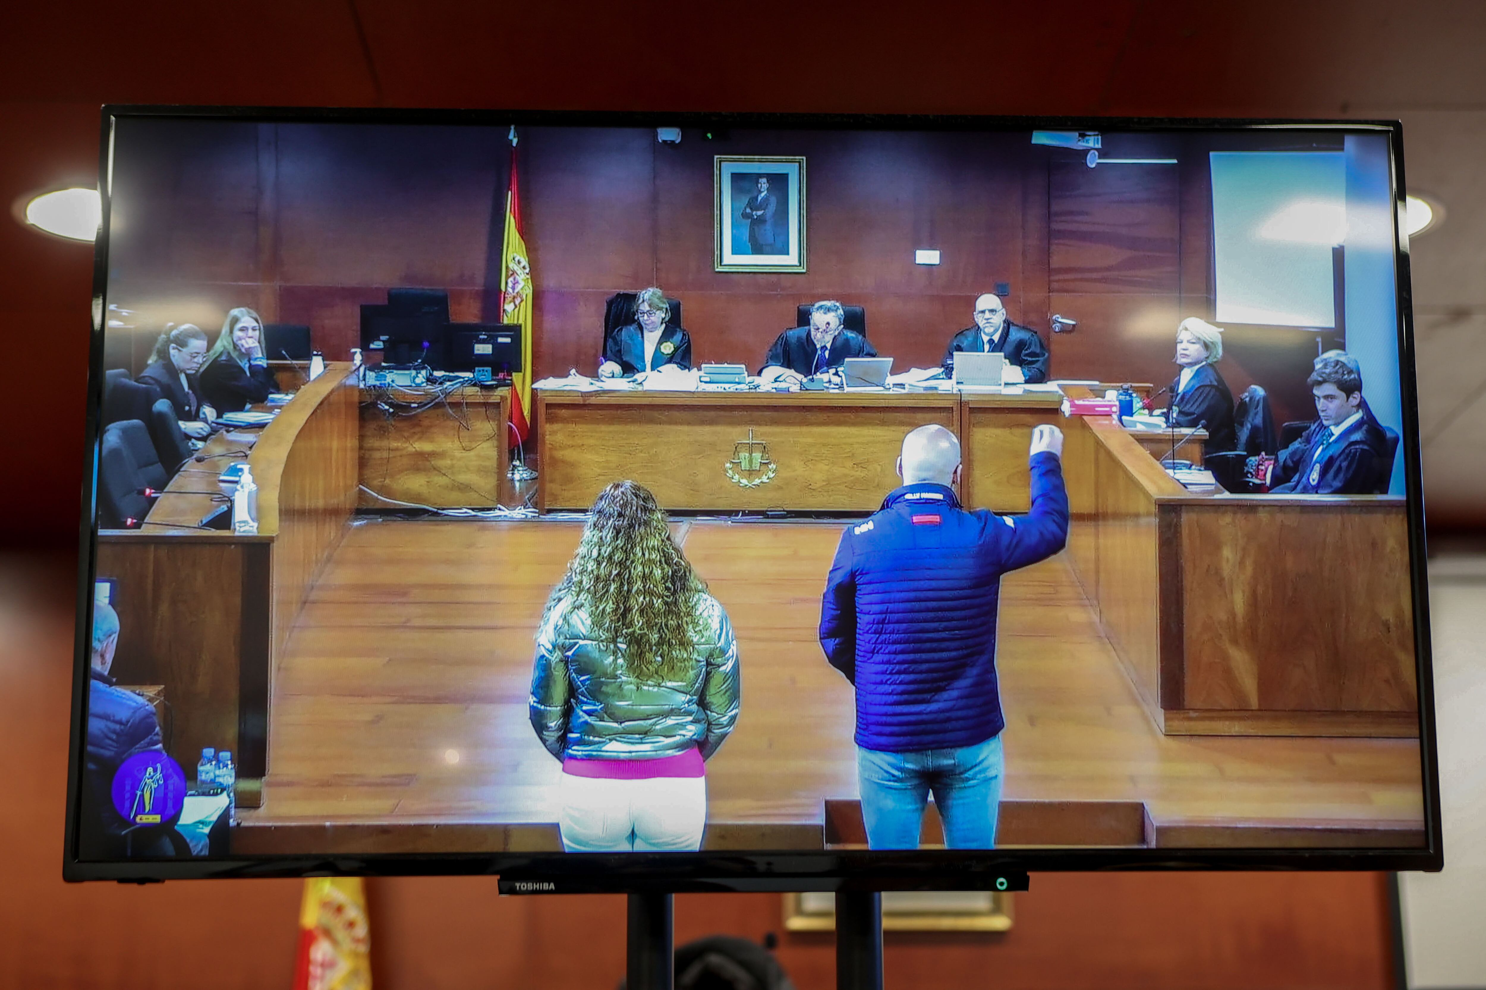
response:
M820 604L820 646L856 686L857 779L872 849L917 849L933 791L951 849L991 849L1005 727L996 683L1002 574L1062 549L1062 432L1031 435L1031 512L966 512L960 442L942 426L903 439L903 485L841 534Z

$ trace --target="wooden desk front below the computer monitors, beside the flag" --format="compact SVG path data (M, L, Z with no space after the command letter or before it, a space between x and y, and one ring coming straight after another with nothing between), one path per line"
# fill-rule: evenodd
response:
M361 393L360 481L380 496L438 508L493 508L508 460L510 389L465 386L415 414L388 416ZM538 393L539 395L539 393ZM398 393L403 401L412 395ZM360 493L361 508L388 502Z

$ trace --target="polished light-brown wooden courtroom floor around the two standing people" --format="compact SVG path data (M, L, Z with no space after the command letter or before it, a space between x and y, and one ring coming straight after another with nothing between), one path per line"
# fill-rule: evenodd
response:
M692 521L676 534L743 665L742 717L707 764L709 848L859 842L851 690L816 643L840 525ZM556 848L559 764L526 690L578 536L556 521L355 525L275 674L265 806L235 845ZM1008 845L1422 842L1416 741L1161 735L1061 555L1005 579L999 669Z

